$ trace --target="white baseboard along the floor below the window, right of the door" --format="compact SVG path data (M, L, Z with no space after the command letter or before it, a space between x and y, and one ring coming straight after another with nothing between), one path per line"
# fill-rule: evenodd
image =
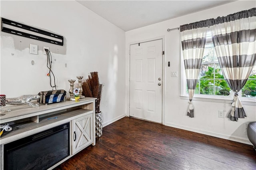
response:
M232 140L234 142L240 142L240 143L244 143L244 144L253 145L250 142L250 140L248 140L248 138L241 138L241 137L238 137L238 136L228 136L226 134L220 134L220 133L210 132L210 131L206 131L206 130L191 128L191 127L185 127L185 126L180 126L180 125L175 125L173 123L165 123L165 125L169 126L169 127L180 128L180 129L183 129L183 130L188 130L188 131L192 131L192 132L206 134L206 135L214 136L214 137L217 137L217 138Z

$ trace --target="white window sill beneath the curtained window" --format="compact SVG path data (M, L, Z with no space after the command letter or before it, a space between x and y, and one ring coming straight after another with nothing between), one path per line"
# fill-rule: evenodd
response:
M183 100L189 100L188 96L180 96L180 99ZM207 101L207 102L215 102L215 103L232 103L233 99L227 99L227 98L209 98L209 97L198 97L194 96L193 101ZM256 106L256 101L255 100L241 100L243 105L248 105L248 106Z

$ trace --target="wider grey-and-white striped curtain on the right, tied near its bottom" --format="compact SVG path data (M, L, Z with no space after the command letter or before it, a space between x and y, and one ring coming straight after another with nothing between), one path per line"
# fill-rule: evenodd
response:
M211 20L212 41L226 82L234 91L231 121L246 117L238 92L256 63L256 8Z

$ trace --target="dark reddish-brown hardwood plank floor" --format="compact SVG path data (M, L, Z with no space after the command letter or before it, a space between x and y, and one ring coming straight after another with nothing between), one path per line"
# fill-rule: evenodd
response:
M56 170L256 170L251 145L124 117Z

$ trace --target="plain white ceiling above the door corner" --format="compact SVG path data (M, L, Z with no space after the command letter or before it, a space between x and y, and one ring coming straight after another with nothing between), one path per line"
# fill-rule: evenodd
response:
M234 0L77 0L124 31L184 16Z

